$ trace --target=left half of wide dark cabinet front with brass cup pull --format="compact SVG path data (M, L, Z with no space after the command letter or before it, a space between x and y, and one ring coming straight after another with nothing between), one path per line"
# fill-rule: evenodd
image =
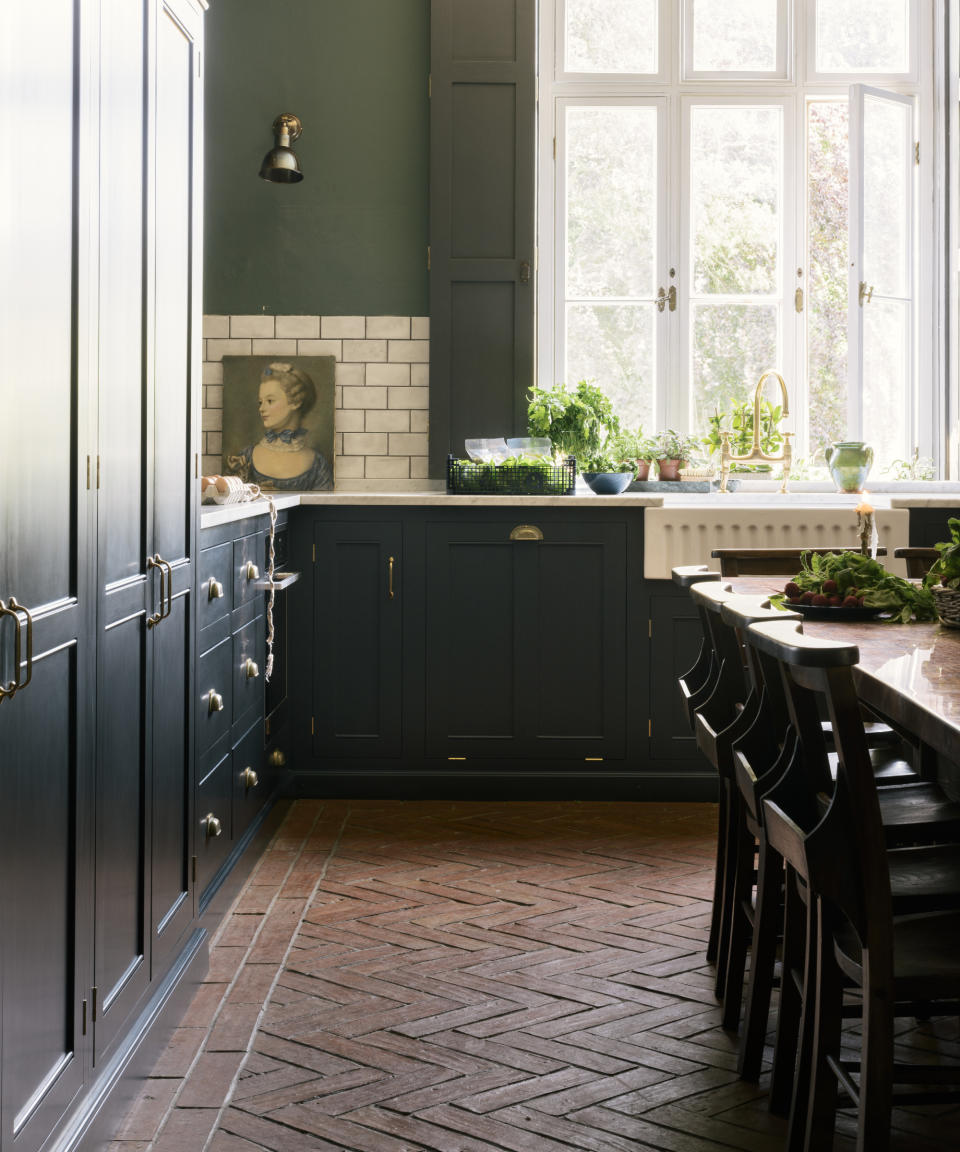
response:
M426 530L426 752L516 752L523 544L512 524Z

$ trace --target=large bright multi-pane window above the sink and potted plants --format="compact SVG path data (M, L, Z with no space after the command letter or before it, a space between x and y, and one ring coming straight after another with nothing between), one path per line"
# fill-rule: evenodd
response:
M932 454L928 8L541 0L542 382L703 434L774 369L811 464Z

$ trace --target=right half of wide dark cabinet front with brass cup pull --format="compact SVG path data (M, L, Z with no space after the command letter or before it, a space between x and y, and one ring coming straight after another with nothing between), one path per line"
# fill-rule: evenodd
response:
M626 529L550 524L519 545L524 573L517 647L531 755L622 757L626 740Z

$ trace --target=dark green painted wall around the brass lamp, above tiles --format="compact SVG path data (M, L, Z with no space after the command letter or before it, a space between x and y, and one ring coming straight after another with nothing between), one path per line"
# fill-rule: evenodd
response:
M425 316L429 0L212 0L204 311ZM281 112L298 184L259 180Z

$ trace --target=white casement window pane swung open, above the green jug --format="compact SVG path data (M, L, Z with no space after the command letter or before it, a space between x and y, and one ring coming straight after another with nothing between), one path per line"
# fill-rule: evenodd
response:
M908 460L917 441L914 99L851 88L851 437L877 460Z

